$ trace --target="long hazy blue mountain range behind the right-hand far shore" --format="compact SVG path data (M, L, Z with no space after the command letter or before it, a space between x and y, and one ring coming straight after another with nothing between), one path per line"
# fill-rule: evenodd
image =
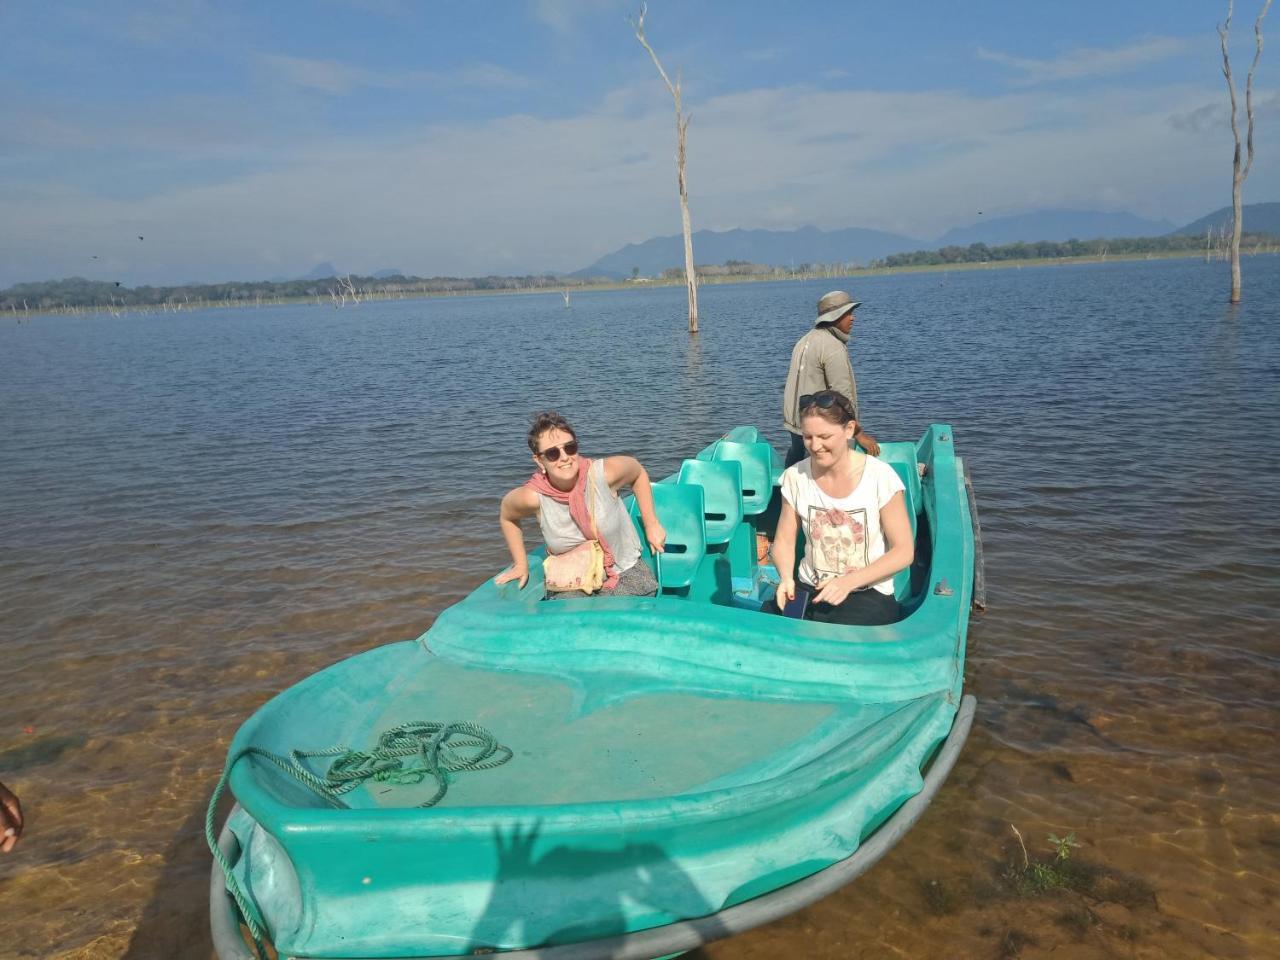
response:
M1164 237L1171 233L1203 233L1212 223L1230 223L1231 209L1224 207L1185 227L1176 228L1170 220L1149 220L1128 212L1102 212L1096 210L1039 210L1014 216L992 216L968 227L947 230L934 241L914 239L899 233L868 230L850 227L844 230L819 230L801 227L796 230L698 230L694 233L694 259L699 264L723 264L744 260L771 266L796 266L799 264L865 264L890 253L916 250L938 250L946 246L966 247L970 243L1000 246L1023 241L1062 242L1069 239L1097 239L1114 237ZM1251 233L1280 236L1280 204L1248 204L1244 207L1244 228ZM677 236L654 237L644 243L627 246L608 253L590 266L575 270L570 276L607 276L625 279L639 268L641 276L657 276L672 266L684 266L685 244Z

